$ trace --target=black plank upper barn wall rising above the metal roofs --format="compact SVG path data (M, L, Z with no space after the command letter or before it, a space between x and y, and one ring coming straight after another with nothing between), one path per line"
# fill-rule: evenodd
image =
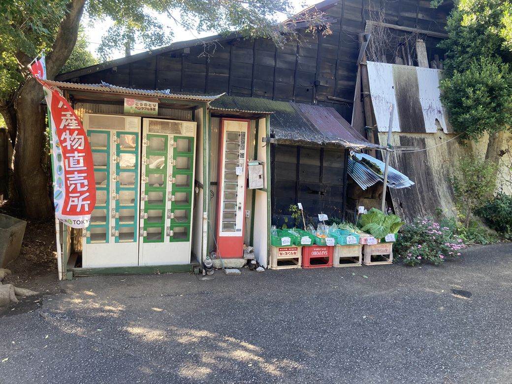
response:
M208 60L202 45L161 53L84 75L73 81L106 81L121 87L267 97L333 106L350 121L359 54L358 35L370 9L385 9L386 22L443 32L447 11L426 0L340 0L326 11L337 22L332 34L299 31L282 48L268 39L222 42ZM429 60L439 39L427 38ZM316 85L315 85L316 84ZM330 97L347 101L333 100Z

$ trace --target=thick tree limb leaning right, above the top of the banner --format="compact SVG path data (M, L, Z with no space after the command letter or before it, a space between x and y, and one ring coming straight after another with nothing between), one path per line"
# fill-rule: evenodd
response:
M57 31L57 37L46 58L46 74L53 80L68 61L78 38L78 28L86 0L71 0L68 13L62 20Z

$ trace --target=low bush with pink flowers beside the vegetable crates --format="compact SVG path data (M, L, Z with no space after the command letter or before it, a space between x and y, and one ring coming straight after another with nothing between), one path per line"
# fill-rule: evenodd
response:
M439 265L447 259L460 256L465 248L464 241L452 233L450 228L441 227L432 219L415 219L412 224L402 227L394 245L396 259L408 265L423 262Z

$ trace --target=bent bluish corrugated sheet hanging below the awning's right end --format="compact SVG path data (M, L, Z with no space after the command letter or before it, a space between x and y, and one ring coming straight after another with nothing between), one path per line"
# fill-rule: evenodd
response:
M350 155L347 171L362 189L367 189L379 181L384 182L385 163L362 153L351 153ZM375 172L365 162L373 163L380 172ZM388 187L400 189L408 188L412 185L414 185L414 182L406 175L398 172L398 170L391 166L388 167Z

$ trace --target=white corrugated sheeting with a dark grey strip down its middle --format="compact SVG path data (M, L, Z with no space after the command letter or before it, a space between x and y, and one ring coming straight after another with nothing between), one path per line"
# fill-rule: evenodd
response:
M393 132L453 132L442 108L439 70L367 62L373 112L379 132L388 132L391 104Z

